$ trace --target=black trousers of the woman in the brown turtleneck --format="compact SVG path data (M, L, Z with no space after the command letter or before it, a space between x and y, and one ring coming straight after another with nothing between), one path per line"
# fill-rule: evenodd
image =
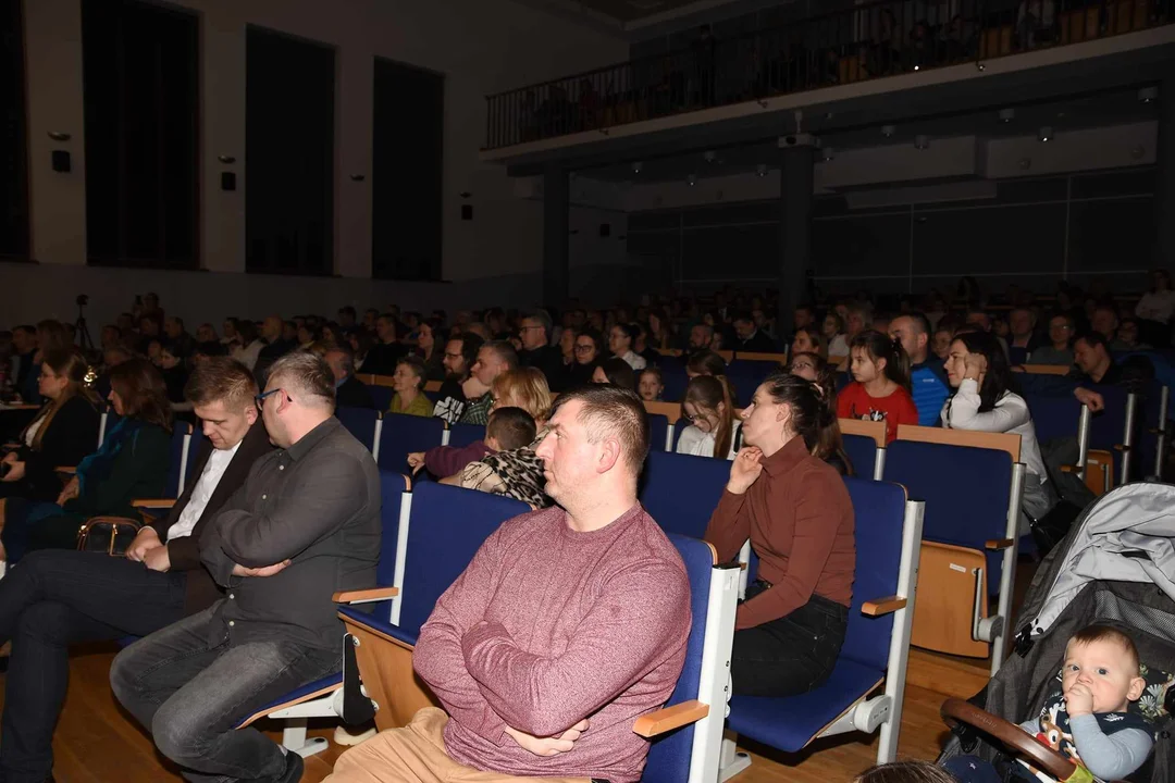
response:
M768 588L756 581L747 586L746 598ZM794 696L812 690L832 674L847 625L848 607L813 595L786 617L734 632L734 694Z

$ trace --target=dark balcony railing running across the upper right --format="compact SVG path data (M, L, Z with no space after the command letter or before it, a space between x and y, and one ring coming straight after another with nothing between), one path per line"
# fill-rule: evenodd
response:
M1132 33L1175 0L884 0L486 97L485 148Z

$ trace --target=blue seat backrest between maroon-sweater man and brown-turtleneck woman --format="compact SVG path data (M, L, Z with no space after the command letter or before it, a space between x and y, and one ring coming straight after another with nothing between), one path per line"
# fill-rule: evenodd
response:
M700 539L730 473L725 459L650 452L640 477L640 504L662 529Z

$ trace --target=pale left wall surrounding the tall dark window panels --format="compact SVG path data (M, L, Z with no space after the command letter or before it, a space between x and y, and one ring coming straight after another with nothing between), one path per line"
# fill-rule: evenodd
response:
M372 58L445 75L443 277L459 283L501 276L529 279L542 269L542 204L516 198L504 168L477 158L484 143L485 95L616 62L627 54L619 35L510 0L177 0L170 5L200 16L201 268L227 276L85 268L81 2L25 0L32 248L39 264L20 266L19 272L13 271L18 266L0 265L0 320L28 320L45 308L58 308L58 293L46 290L55 283L67 285L67 302L85 289L93 295L95 306L109 312L125 309L130 295L146 290L148 281L161 293L174 288L172 302L177 305L176 299L183 297L180 309L190 315L181 315L189 318L203 316L202 304L189 305L188 297L216 295L208 281L254 292L244 303L256 301L260 306L271 299L258 291L257 282L266 278L243 276L247 25L337 47L335 271L344 278L365 278L371 268ZM410 120L410 107L405 107L405 121ZM69 133L72 139L52 142L48 131ZM51 170L49 150L56 148L73 153L70 174ZM216 160L220 155L233 156L236 163L226 167ZM226 168L237 171L234 193L219 188ZM367 178L356 183L350 180L352 174ZM472 194L468 202L475 205L471 222L459 220L459 207L466 203L459 196L463 191ZM62 275L62 266L76 274ZM181 279L183 283L177 282ZM331 306L352 290L361 299L357 304L396 299L405 305L412 304L403 301L405 291L419 296L432 290L390 283L351 286L307 278L277 279L268 285L289 289L291 296L306 291L310 302L314 295L325 295ZM486 285L484 290L495 295L502 288ZM518 296L533 296L536 289L526 289L529 285L525 283ZM509 297L510 291L505 293ZM376 301L376 296L385 298ZM488 298L472 304L501 302ZM214 303L203 304L219 309ZM318 309L323 309L321 303Z

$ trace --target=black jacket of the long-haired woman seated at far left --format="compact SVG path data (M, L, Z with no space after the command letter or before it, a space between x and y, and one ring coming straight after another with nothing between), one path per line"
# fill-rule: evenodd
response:
M101 414L81 396L70 397L61 406L41 437L40 448L21 445L16 458L25 463L24 494L29 500L56 500L61 479L55 468L76 466L86 454L98 447L98 427Z

